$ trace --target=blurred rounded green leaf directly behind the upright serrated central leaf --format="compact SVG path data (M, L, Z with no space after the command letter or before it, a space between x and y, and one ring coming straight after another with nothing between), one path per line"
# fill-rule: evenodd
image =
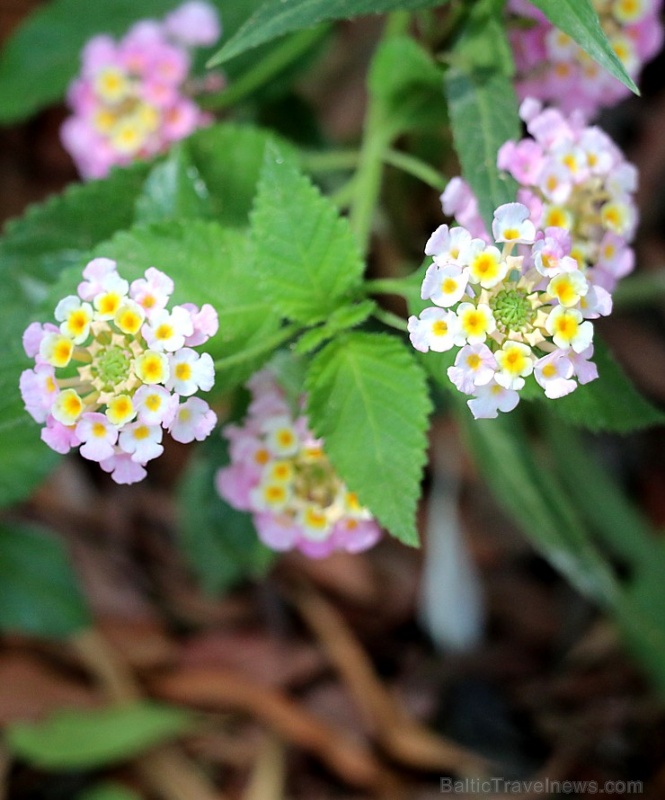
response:
M250 125L211 125L186 142L193 167L205 183L215 219L246 226L268 142L295 158L295 150L268 130Z

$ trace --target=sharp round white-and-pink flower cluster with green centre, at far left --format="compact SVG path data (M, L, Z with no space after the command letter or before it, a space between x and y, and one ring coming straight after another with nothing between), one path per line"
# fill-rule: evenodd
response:
M21 375L21 395L49 447L79 448L116 483L134 483L163 452L165 430L192 442L215 426L215 413L193 396L212 388L214 364L193 347L216 333L217 312L208 304L168 309L173 281L154 267L130 285L115 261L96 258L83 277L56 306L57 324L25 331L35 366Z

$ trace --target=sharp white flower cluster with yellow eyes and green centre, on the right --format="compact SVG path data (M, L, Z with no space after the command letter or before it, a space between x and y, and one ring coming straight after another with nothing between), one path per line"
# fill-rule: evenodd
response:
M565 230L538 232L526 206L508 203L492 233L500 248L462 227L434 232L421 287L434 306L408 321L417 350L459 348L447 374L476 419L512 411L530 375L552 399L597 378L591 320L612 307L571 257Z

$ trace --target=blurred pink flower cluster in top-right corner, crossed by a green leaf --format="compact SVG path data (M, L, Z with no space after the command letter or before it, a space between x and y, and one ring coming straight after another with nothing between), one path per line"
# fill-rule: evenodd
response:
M593 0L600 24L628 74L636 80L663 43L662 0ZM509 0L518 15L509 28L521 98L537 97L564 113L587 118L630 90L597 64L527 0Z

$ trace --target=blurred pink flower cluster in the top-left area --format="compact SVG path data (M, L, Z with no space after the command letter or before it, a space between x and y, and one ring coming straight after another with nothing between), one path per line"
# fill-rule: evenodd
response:
M100 35L86 44L67 97L73 115L61 129L84 178L160 153L208 122L189 96L190 50L213 44L220 30L214 7L191 0L118 42Z

